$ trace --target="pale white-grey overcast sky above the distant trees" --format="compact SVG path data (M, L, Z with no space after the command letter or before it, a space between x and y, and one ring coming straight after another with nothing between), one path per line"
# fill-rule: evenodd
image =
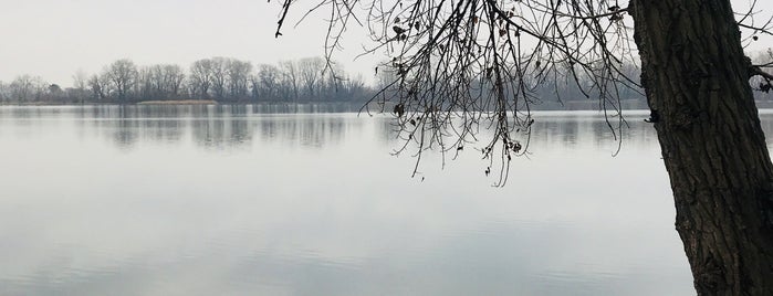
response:
M79 70L96 73L115 60L187 67L211 56L274 63L323 54L324 24L316 14L274 39L278 0L0 0L0 81L40 75L65 86ZM738 0L737 8L746 0ZM764 3L773 10L771 3ZM355 35L355 34L352 34ZM359 34L362 35L362 34ZM379 60L361 53L364 39L349 38L338 59L366 80ZM762 36L756 50L772 46Z

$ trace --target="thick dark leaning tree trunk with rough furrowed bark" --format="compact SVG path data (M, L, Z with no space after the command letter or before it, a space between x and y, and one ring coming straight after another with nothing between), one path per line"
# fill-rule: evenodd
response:
M773 295L773 165L729 0L631 0L698 295Z

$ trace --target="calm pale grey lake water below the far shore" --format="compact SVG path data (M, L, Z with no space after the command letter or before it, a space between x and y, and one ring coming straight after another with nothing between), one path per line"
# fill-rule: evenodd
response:
M497 189L380 116L0 107L0 295L691 295L641 118L539 114Z

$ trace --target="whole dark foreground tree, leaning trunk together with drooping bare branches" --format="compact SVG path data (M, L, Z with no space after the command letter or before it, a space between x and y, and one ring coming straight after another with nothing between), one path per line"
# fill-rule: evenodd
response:
M283 1L275 36L299 6ZM309 13L322 9L328 56L353 24L374 41L366 52L390 56L379 67L394 78L376 99L394 112L403 150L456 154L492 130L481 150L501 159L499 184L529 146L537 85L575 84L617 115L607 117L616 135L623 88L640 81L698 294L773 295L773 165L749 83L771 76L743 53L771 33L754 10L735 14L730 0L322 0Z

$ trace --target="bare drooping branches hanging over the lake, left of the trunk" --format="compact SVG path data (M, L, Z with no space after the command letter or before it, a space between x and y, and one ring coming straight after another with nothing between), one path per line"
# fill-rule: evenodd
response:
M375 44L363 54L388 56L378 68L389 82L372 101L394 110L404 141L395 154L412 151L414 176L426 150L438 151L445 166L447 155L479 142L491 161L484 172L499 171L495 186L506 182L513 157L527 152L543 84L597 99L618 140L626 125L620 96L641 93L638 73L628 70L638 60L627 8L615 1L323 0L311 11L321 7L331 9L328 61L352 19L365 20Z

